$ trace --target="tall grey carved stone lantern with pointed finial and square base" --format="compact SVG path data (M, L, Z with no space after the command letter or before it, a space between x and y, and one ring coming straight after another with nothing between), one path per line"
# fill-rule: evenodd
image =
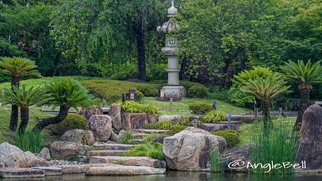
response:
M158 26L156 29L159 33L167 34L171 29L178 26L176 16L178 9L174 6L174 0L172 0L172 6L168 9L167 22L164 22L162 27ZM178 43L174 37L166 35L166 46L161 49L162 53L168 58L168 84L164 86L161 91L165 93L167 97L187 97L187 90L179 84L179 56L176 53L178 51Z

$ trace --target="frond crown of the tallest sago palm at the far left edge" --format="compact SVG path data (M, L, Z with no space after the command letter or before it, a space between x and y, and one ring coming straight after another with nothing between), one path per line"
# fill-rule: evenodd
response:
M22 57L0 57L0 72L17 77L25 77L25 76L43 76L36 70L32 70L37 67L34 61L31 61L27 58Z

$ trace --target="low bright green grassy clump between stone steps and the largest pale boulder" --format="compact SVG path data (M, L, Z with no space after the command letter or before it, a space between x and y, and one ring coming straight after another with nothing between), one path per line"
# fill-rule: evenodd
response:
M122 153L125 157L152 157L154 159L165 160L162 153L163 145L161 143L146 143L138 145Z

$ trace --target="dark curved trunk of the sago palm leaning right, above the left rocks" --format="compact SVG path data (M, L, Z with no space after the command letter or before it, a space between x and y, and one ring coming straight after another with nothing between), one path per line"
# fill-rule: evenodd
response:
M42 121L39 121L35 127L33 127L33 130L38 130L41 132L46 126L51 124L58 124L66 119L68 115L69 106L63 105L60 107L59 114L56 117L46 118Z

